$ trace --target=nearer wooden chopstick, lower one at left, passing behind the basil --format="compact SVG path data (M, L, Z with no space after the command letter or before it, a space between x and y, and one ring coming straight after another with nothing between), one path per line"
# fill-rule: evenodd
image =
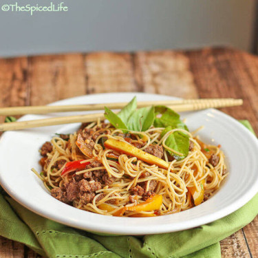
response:
M153 105L153 102L151 102ZM193 111L199 109L206 109L210 107L232 107L236 105L242 105L243 100L223 100L221 102L211 101L210 103L186 103L182 105L169 105L169 107L175 111ZM97 119L103 120L104 114L87 114L79 116L64 116L59 118L46 118L39 120L30 120L22 122L8 122L0 124L0 131L10 131L10 130L19 130L27 129L32 127L46 127L50 125L63 125L73 122L93 122Z

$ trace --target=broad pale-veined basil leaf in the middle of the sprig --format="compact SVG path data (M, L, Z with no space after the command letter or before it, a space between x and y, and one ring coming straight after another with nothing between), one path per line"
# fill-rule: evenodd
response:
M130 116L127 127L133 131L146 131L153 124L155 113L154 107L142 107Z

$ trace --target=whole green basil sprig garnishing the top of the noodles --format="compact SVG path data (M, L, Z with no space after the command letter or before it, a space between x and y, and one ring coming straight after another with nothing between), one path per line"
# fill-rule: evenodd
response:
M147 131L152 125L154 127L164 127L161 138L173 129L189 131L184 122L180 120L180 115L169 109L169 107L158 105L137 109L136 97L121 109L118 114L105 107L105 118L114 127L131 131ZM165 144L167 147L182 153L182 155L178 155L166 149L176 160L182 160L189 153L189 135L182 131L171 133Z

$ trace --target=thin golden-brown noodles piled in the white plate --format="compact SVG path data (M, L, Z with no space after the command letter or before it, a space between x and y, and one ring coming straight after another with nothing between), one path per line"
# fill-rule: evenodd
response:
M147 131L129 131L128 134L133 136L131 144L144 145L139 149L144 151L150 144L158 144L164 148L163 159L169 162L169 169L162 169L157 165L147 164L136 157L132 157L123 153L118 153L113 149L104 149L103 139L113 138L127 142L127 136L121 129L114 129L110 124L101 124L100 121L92 122L87 129L95 130L97 135L94 141L92 158L87 158L81 153L76 146L77 133L69 134L69 140L65 141L61 137L54 137L51 140L52 151L47 153L45 164L43 164L43 173L38 175L43 180L47 189L61 189L71 182L76 176L84 176L85 173L92 174L98 171L106 171L107 179L112 179L111 184L103 185L101 189L96 190L92 202L85 203L80 198L76 198L72 205L76 208L98 213L102 215L116 214L121 207L133 206L136 203L141 204L144 199L141 195L136 195L135 202L131 202L131 190L141 184L145 185L145 191L149 192L152 182L156 182L155 190L152 194L162 195L162 205L160 206L159 215L166 215L184 211L194 206L189 189L195 187L199 189L202 180L204 180L204 200L208 199L215 193L226 177L226 165L224 162L224 153L219 147L207 145L208 149L215 155L219 156L219 162L213 166L205 155L200 140L193 138L192 134L183 129L173 129L168 131L162 138L160 137L164 128L151 127ZM100 129L99 129L100 128ZM174 133L180 131L189 136L189 140L193 143L193 149L189 151L189 155L182 160L169 161L170 155L168 151L176 155L182 153L171 149L165 144L166 139ZM195 131L196 132L196 131ZM110 157L117 157L115 158ZM113 159L113 160L112 160ZM56 168L56 162L64 160L63 166ZM61 173L66 162L83 160L85 162L98 161L101 166L87 167L73 173ZM54 169L53 169L54 167ZM34 173L34 171L32 169ZM91 183L91 182L89 182ZM133 195L134 196L134 195ZM109 204L112 211L106 211L99 208L101 204ZM153 215L154 211L127 211L125 216L131 216L142 213L142 215Z

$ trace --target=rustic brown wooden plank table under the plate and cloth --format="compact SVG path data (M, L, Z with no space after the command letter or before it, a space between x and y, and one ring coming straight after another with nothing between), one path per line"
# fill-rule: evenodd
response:
M182 98L243 98L222 111L248 119L258 133L258 58L232 49L0 59L0 106L45 105L102 92L148 92ZM3 118L0 118L1 122ZM222 257L258 257L258 217L221 241ZM1 258L40 257L0 237Z

